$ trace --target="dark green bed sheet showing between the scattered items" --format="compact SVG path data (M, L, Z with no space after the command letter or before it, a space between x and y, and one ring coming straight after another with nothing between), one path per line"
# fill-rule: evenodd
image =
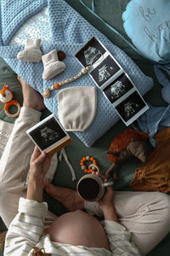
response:
M150 104L154 106L166 106L166 103L161 98L161 85L158 84L156 81L153 67L150 61L138 55L133 49L130 49L129 46L114 32L111 32L111 30L107 26L105 26L105 24L102 23L102 21L98 20L96 17L94 17L94 15L90 14L88 9L82 7L82 4L79 3L78 0L66 0L65 2L69 3L93 26L99 29L100 32L104 33L105 36L109 38L113 44L116 44L118 47L123 49L146 75L154 79L154 87L152 90L150 90L150 92L147 95L144 96L144 100L146 102L150 102ZM114 26L118 32L121 32L125 38L127 38L127 36L122 26L122 12L123 10L125 10L128 2L128 0L98 0L95 8L96 13L105 21L107 21L111 26ZM87 3L88 6L91 7L91 0L84 0L84 3ZM111 6L113 7L112 9ZM105 10L105 12L103 10ZM0 59L0 77L1 85L5 82L12 85L14 97L20 102L20 104L22 104L20 83L16 79L16 74L10 67L8 67L7 63L3 61L3 59ZM3 119L11 123L14 122L14 119L10 119L7 116L5 116L2 108L3 104L0 103L0 119ZM47 116L48 114L48 110L44 111L43 117ZM109 131L107 131L103 137L100 137L99 140L95 142L91 148L87 148L74 133L69 133L73 139L73 143L71 143L71 145L69 145L66 148L66 153L69 157L69 160L71 161L72 166L75 169L77 179L82 177L83 175L83 172L79 166L79 161L82 159L83 156L94 156L94 158L99 163L101 172L105 172L105 170L109 166L111 166L111 163L109 162L109 160L107 160L105 151L108 150L113 138L125 129L127 129L127 126L123 125L122 121L119 121ZM133 160L130 160L126 164L124 164L122 166L121 172L119 172L119 180L115 183L114 189L130 190L130 188L128 187L128 183L132 180L134 170L139 165L139 162L136 163ZM77 181L71 181L71 172L68 166L66 165L65 160L59 162L58 170L54 176L54 184L59 186L65 186L71 189L76 188ZM57 212L58 215L61 214L62 212L65 212L64 207L62 207L58 202L54 201L52 198L49 198L49 196L46 195L45 193L44 199L48 201L50 210ZM0 230L5 229L2 221L0 224L0 228ZM161 254L164 256L169 255L169 242L170 235L168 235L166 239L161 241L161 244L159 244L152 252L150 252L148 256L160 256ZM0 253L0 255L3 254Z

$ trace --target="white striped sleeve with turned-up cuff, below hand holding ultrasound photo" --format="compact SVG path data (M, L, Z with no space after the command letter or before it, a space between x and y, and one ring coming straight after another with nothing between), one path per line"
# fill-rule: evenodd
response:
M43 233L43 220L48 205L20 198L19 212L8 228L4 256L26 256L35 247Z

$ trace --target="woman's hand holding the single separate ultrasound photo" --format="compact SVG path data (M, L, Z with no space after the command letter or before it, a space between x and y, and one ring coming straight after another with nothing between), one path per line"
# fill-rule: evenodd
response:
M43 179L48 172L52 156L41 152L39 148L35 147L31 155L30 161L30 179L43 183Z

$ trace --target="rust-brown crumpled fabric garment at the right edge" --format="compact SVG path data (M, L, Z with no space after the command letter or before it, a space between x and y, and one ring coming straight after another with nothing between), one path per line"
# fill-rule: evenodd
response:
M129 186L138 191L170 191L170 127L156 133L156 148L147 161L135 170Z

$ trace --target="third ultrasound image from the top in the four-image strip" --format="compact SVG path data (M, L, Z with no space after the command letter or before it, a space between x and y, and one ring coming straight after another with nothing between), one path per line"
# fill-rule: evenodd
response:
M109 99L111 103L116 102L119 98L127 93L128 90L133 88L133 84L127 78L125 73L122 73L120 77L114 80L111 84L109 84L105 90L105 96Z

